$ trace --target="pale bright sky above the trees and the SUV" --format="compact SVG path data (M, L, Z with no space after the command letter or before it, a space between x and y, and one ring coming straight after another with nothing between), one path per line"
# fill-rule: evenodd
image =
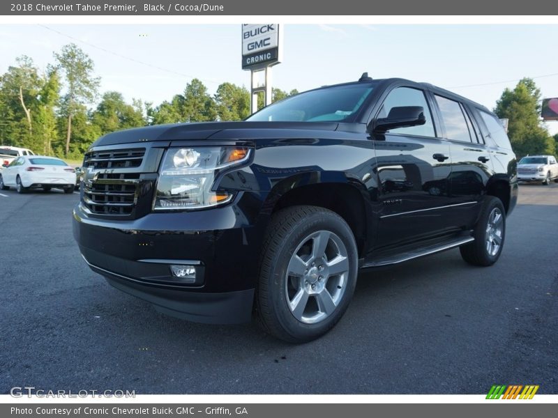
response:
M557 25L285 24L284 59L273 86L308 90L356 80L404 77L465 95L492 109L504 88L535 77L558 97ZM0 72L22 54L39 68L75 42L95 62L101 91L159 104L193 77L214 93L222 82L249 86L241 70L240 24L0 24ZM541 77L546 76L546 77ZM558 122L548 123L558 132Z

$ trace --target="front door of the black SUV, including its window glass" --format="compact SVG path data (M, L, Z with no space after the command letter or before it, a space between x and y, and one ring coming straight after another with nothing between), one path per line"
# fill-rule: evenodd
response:
M374 137L378 181L377 246L391 247L444 233L447 222L447 179L451 173L448 141L439 137L432 104L422 88L398 86L385 97L375 118L392 107L421 106L424 125L403 127Z

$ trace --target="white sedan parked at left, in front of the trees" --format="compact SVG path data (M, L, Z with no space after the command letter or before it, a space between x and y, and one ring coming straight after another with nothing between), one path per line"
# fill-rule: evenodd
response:
M72 193L75 187L75 170L59 158L38 155L17 157L0 172L0 189L15 187L18 193L40 187L52 187Z

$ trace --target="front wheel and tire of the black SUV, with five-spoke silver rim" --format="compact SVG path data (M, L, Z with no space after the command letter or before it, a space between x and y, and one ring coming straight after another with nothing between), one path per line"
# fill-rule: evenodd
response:
M264 330L292 343L338 323L356 286L358 251L349 225L331 210L292 206L273 215L256 292Z

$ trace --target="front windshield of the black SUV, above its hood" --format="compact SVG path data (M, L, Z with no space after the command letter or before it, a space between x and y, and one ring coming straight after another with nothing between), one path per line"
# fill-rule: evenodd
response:
M252 122L353 121L374 84L347 84L307 91L270 104L250 116Z

